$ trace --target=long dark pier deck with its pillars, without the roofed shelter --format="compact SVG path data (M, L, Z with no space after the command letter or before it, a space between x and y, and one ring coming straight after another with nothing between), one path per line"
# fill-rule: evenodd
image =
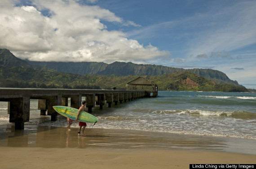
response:
M15 123L15 129L24 129L24 123L29 122L30 99L38 99L40 115L50 115L51 121L57 120L57 112L53 106L67 106L68 98L71 107L79 109L82 97L86 98L88 113L95 105L100 109L106 103L111 107L123 101L132 101L142 97L157 96L157 90L88 90L88 89L0 89L0 101L8 101L9 122Z

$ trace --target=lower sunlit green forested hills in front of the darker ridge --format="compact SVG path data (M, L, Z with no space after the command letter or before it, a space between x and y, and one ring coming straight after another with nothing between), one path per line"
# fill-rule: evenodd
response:
M41 71L33 68L0 66L0 87L4 88L61 88L61 89L126 89L126 83L139 76L77 75ZM158 84L159 90L248 92L239 85L215 84L191 72L176 72L161 76L143 76ZM152 86L137 86L152 90Z

